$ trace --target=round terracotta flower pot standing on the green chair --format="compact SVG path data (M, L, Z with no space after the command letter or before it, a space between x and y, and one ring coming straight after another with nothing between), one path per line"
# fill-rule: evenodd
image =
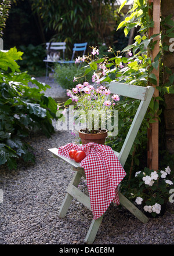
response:
M105 139L107 137L107 130L101 130L98 133L90 134L86 133L85 129L81 129L78 131L79 138L81 138L82 145L87 144L89 142L95 142L97 144L104 145Z

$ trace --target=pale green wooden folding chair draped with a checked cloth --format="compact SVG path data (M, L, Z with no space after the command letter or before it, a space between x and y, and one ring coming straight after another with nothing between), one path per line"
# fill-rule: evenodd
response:
M139 131L140 125L142 124L144 115L146 114L150 100L153 97L154 88L153 86L143 87L143 86L122 84L122 83L113 81L110 83L109 89L111 93L140 100L139 107L136 111L135 117L133 118L132 125L129 128L129 132L126 136L122 149L119 153L115 152L120 163L124 167L125 162L130 153L130 150L132 148L133 142L136 138L137 132ZM57 158L61 158L62 160L66 161L66 163L70 164L73 170L75 171L74 177L67 187L66 197L63 201L63 204L61 205L61 208L59 211L59 217L63 218L66 215L73 197L77 199L80 203L84 204L89 210L91 210L89 197L86 196L86 194L82 193L77 188L81 180L81 177L82 176L85 177L84 168L81 168L79 163L75 163L75 161L73 160L60 156L58 154L57 148L49 149L49 151L53 154L53 156ZM143 214L142 211L140 211L133 203L131 203L131 201L126 199L126 197L119 191L118 191L118 194L119 194L119 202L121 205L123 205L127 210L129 210L133 215L135 215L136 218L138 218L143 223L148 222L148 218L146 217L146 215ZM95 240L97 230L99 229L102 219L103 219L103 215L99 219L92 220L92 223L90 225L90 228L85 238L85 242L87 244L92 244L93 241Z

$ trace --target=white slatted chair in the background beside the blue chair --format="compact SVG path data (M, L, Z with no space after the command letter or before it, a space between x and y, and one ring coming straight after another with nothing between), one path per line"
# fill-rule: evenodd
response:
M52 69L49 64L55 63L61 58L61 51L63 51L63 60L66 50L66 42L47 42L46 43L46 59L43 60L46 63L46 80L48 78L48 68Z

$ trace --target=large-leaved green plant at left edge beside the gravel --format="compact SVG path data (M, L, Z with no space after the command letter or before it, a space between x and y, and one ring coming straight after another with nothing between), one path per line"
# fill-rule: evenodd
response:
M54 132L56 102L42 91L50 88L20 72L22 52L16 48L0 52L0 164L17 167L17 158L34 161L27 136L40 131L48 138ZM28 86L31 82L37 86ZM38 88L37 88L38 87Z

